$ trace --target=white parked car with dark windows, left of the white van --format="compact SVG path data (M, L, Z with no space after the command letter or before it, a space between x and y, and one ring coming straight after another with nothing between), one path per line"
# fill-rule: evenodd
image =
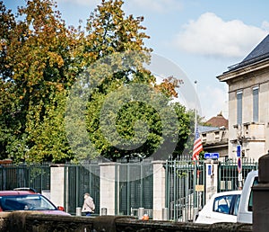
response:
M237 222L239 201L242 191L218 192L198 213L195 223Z

